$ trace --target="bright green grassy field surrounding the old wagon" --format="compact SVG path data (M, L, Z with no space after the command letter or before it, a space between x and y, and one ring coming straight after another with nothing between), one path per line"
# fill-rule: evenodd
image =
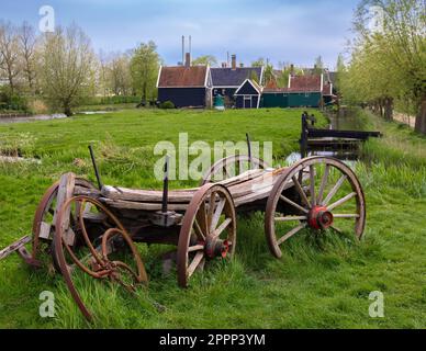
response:
M315 112L317 115L318 113ZM94 180L87 145L97 150L104 183L159 189L153 166L159 140L177 143L273 141L277 163L298 149L301 111L225 113L123 111L67 121L0 125L3 154L40 158L41 165L0 163L0 247L30 233L45 189L74 171ZM426 327L426 139L407 127L372 116L366 123L383 139L365 148L356 171L365 186L368 225L365 239L328 233L289 241L281 260L267 249L262 214L238 219L233 262L218 262L177 287L164 274L156 252L141 247L150 278L133 297L121 288L81 276L79 286L97 318L88 325L65 284L45 271L27 270L15 256L0 262L1 328L425 328ZM320 118L320 125L325 120ZM172 182L172 188L195 182ZM54 319L38 316L38 295L56 296ZM385 297L385 317L369 317L369 294ZM157 308L161 305L164 308Z

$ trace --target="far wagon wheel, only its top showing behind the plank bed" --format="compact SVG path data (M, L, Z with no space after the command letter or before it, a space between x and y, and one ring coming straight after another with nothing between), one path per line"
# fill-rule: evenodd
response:
M267 169L268 165L256 157L245 155L235 155L224 158L212 166L212 168L205 172L201 180L200 186L208 183L220 182L250 170L250 169Z

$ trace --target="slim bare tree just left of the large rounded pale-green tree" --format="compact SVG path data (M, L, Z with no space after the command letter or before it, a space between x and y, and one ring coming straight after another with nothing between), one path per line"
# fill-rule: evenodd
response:
M24 22L19 31L20 55L22 58L23 72L31 91L34 89L35 80L35 44L36 36L34 27Z

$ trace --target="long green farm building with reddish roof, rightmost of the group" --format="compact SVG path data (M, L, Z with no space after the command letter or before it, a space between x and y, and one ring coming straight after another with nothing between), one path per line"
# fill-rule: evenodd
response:
M328 88L328 90L327 90ZM262 91L262 107L320 107L332 84L324 86L324 76L290 76L288 88L267 86Z

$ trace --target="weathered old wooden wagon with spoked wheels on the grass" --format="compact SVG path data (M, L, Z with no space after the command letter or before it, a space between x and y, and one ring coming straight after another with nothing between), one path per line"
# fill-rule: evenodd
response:
M32 235L0 251L0 259L16 251L35 268L46 264L47 253L88 319L92 314L76 288L75 271L134 291L148 281L135 242L177 247L171 257L178 283L187 287L195 271L235 253L237 214L265 213L265 234L276 258L304 229L314 235L351 230L357 238L363 234L361 185L337 159L311 157L271 169L251 156L233 156L215 163L200 188L176 191L168 189L166 167L162 191L153 191L103 185L91 155L98 186L64 174L43 196Z

